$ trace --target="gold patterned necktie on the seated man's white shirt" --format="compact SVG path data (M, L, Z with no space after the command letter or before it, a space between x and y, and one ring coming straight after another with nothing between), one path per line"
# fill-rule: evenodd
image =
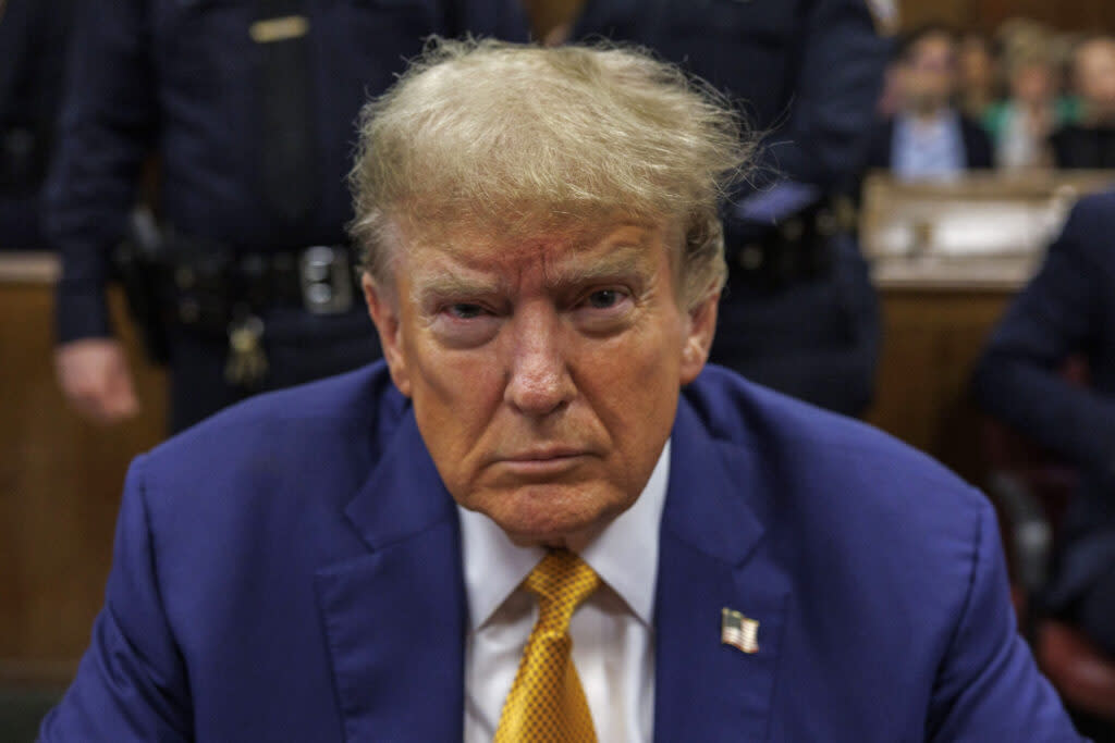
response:
M600 578L573 553L555 549L523 585L539 597L539 620L526 639L494 743L597 743L573 666L569 620Z

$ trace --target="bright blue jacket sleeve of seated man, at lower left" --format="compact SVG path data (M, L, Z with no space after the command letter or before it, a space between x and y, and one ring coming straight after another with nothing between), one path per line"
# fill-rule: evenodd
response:
M140 743L193 739L182 657L163 610L145 505L143 460L128 472L105 607L89 649L41 743Z

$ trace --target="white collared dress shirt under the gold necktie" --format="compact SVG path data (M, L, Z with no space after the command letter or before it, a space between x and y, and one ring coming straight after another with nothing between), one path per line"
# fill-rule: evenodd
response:
M569 632L573 665L602 742L652 737L652 617L669 461L667 441L639 499L578 550L601 579L573 615ZM487 516L463 508L459 512L468 596L465 743L491 743L537 618L537 599L518 586L545 549L518 547Z

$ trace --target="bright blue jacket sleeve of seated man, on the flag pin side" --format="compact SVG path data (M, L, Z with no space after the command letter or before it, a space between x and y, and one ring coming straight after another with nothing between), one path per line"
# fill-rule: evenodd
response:
M970 559L968 596L938 671L927 740L1083 740L1018 635L999 530L987 502L979 514Z

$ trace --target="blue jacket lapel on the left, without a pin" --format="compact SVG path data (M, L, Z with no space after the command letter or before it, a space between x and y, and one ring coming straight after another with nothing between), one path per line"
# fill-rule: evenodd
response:
M370 551L316 576L346 740L459 741L459 529L411 412L346 516Z

